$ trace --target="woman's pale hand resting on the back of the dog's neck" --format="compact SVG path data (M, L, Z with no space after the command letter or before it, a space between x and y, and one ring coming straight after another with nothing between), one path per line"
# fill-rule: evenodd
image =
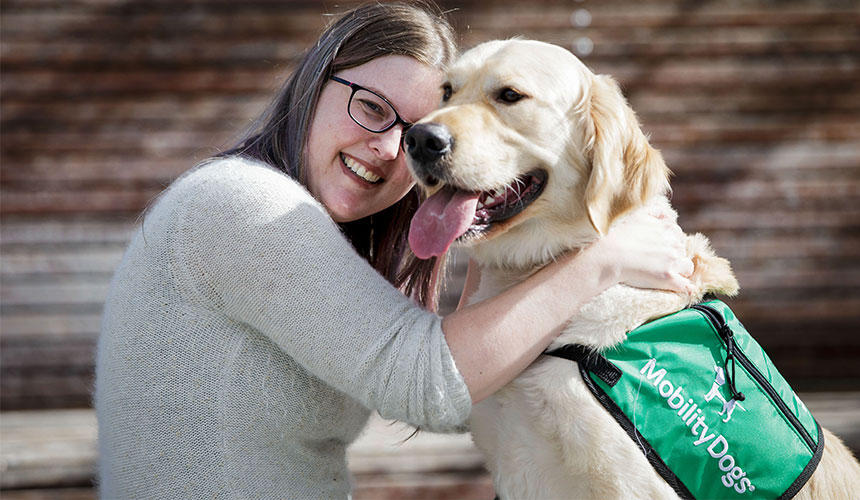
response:
M692 293L693 261L686 236L670 210L643 208L613 225L591 247L618 283Z

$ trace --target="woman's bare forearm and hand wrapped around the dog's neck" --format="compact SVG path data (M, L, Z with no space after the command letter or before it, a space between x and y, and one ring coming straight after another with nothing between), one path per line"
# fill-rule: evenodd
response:
M442 330L472 401L484 399L516 377L584 304L610 286L626 283L688 291L685 276L692 273L693 264L683 244L683 233L673 220L634 214L582 251L446 316ZM477 286L476 268L470 262L464 295Z

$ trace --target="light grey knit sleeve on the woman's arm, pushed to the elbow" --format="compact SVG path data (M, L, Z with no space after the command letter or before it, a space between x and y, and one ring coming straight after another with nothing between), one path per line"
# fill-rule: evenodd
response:
M165 198L178 206L180 273L200 300L384 418L462 428L471 400L441 318L361 258L302 186L234 158L186 175Z

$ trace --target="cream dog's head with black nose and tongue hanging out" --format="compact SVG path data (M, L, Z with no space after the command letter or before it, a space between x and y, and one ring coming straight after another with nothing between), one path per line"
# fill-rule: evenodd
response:
M561 47L481 44L443 90L442 107L404 140L428 194L410 229L421 258L457 242L485 263L545 263L668 190L618 85Z

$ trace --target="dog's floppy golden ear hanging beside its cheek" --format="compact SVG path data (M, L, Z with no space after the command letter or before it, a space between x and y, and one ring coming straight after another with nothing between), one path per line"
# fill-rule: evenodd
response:
M648 144L615 80L596 75L583 104L586 156L591 161L585 206L591 225L605 234L617 217L668 192L669 169Z

